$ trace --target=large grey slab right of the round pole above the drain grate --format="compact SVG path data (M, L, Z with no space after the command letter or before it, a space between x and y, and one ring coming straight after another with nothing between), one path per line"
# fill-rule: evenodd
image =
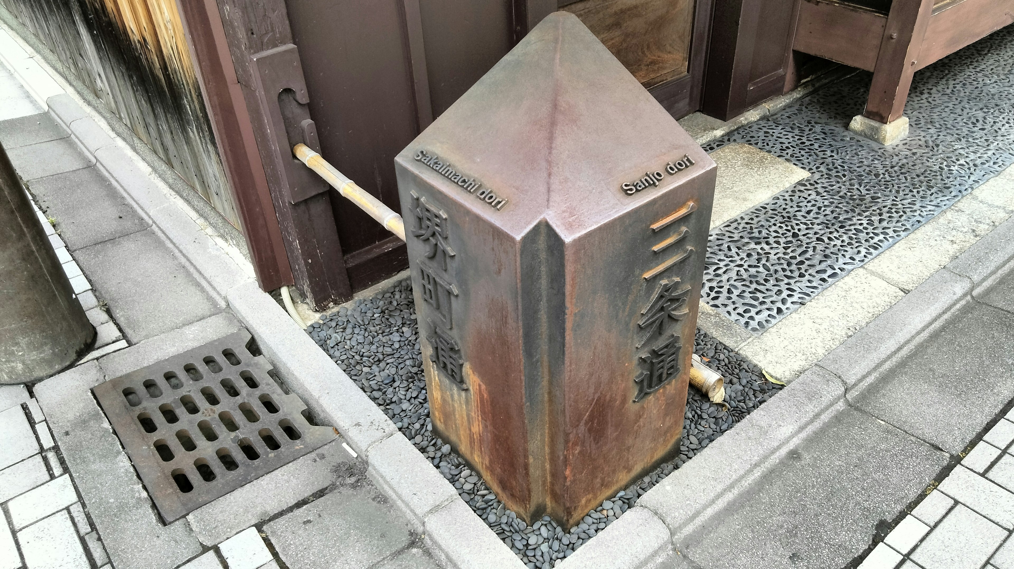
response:
M222 311L151 229L80 248L75 255L132 343Z

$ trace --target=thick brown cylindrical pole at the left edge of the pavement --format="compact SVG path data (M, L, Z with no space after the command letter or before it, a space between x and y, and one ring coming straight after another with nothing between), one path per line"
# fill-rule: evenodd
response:
M0 383L49 377L73 363L94 338L95 329L0 147Z

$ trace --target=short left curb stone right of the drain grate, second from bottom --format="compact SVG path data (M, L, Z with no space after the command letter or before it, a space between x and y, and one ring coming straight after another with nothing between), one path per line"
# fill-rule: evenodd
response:
M417 531L431 512L457 498L454 487L402 433L371 446L366 459L366 474L394 499Z

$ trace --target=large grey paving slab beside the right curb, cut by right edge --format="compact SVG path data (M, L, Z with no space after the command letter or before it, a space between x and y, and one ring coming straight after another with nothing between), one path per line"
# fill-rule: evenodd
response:
M855 404L957 454L1014 398L1014 315L972 303L931 332Z

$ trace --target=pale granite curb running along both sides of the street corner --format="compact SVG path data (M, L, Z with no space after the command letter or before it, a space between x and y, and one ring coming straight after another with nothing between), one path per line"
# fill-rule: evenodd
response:
M183 204L167 195L138 163L139 158L116 144L63 88L55 92L52 87L58 85L44 69L35 72L27 63L21 72L16 61L8 60L3 48L11 40L6 32L0 33L0 58L15 70L33 96L45 96L41 102L180 252L206 286L227 302L292 389L322 421L337 427L355 452L365 458L370 478L425 536L439 561L453 568L523 567L390 419L270 295L260 290L251 272L202 227L196 214L188 213ZM30 57L25 53L23 59ZM39 67L38 62L33 67ZM834 77L826 81L840 78L835 73L827 75ZM767 116L817 86L815 82L805 90L785 95L784 100L769 101L763 109L730 121L727 130L723 127L702 140L707 142ZM640 569L684 565L679 540L705 521L708 516L704 512L728 503L763 477L793 443L843 408L847 398L875 382L889 367L891 356L907 353L922 336L939 326L943 316L990 286L1005 269L1014 268L1012 258L1014 218L983 237L804 372L779 397L648 491L635 507L560 567ZM615 555L619 551L624 555Z

